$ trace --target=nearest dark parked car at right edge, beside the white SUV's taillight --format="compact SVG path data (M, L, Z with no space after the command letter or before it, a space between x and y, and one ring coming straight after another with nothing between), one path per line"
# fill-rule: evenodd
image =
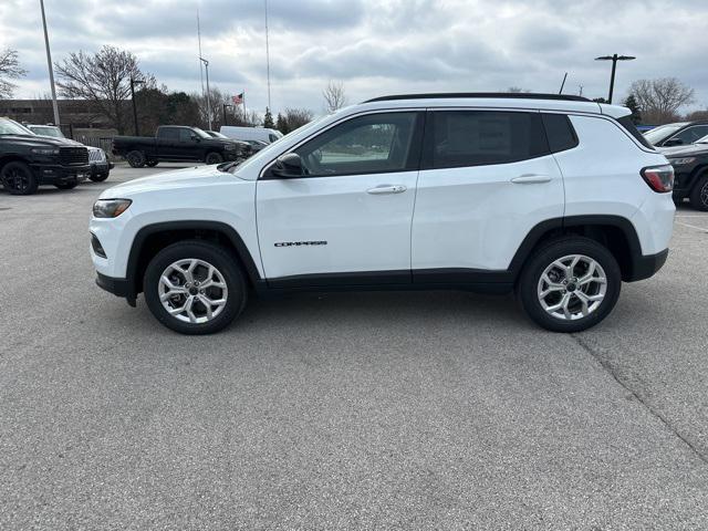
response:
M708 136L689 146L660 147L674 166L674 200L688 198L690 206L708 211Z

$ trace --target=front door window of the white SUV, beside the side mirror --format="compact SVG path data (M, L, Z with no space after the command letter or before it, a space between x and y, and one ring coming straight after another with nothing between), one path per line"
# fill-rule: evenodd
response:
M417 167L413 156L416 113L352 118L299 147L310 176L400 171Z

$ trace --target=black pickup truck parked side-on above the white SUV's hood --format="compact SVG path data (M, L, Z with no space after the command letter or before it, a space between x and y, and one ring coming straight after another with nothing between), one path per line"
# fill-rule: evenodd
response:
M125 157L134 168L142 168L157 166L160 160L207 164L240 160L248 158L252 149L243 142L214 138L199 127L160 125L155 136L116 136L113 154Z

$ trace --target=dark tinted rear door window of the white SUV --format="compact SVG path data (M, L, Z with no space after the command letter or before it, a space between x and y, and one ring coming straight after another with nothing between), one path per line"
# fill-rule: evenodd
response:
M539 113L439 111L431 113L430 126L426 166L433 168L513 163L549 153Z

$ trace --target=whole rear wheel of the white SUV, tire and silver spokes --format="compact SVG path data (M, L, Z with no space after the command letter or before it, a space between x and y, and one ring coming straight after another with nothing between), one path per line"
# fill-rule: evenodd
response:
M582 258L568 279L566 270L554 262L572 266L574 257ZM592 278L604 278L605 282L590 280L581 285L583 278L589 279L591 264L595 268ZM552 283L542 281L544 274ZM607 248L589 238L568 237L545 243L531 254L521 272L517 294L527 315L538 325L552 332L580 332L596 325L612 312L621 287L622 271ZM542 298L542 293L546 294ZM577 293L584 294L585 309ZM554 310L565 298L568 312L562 306Z

